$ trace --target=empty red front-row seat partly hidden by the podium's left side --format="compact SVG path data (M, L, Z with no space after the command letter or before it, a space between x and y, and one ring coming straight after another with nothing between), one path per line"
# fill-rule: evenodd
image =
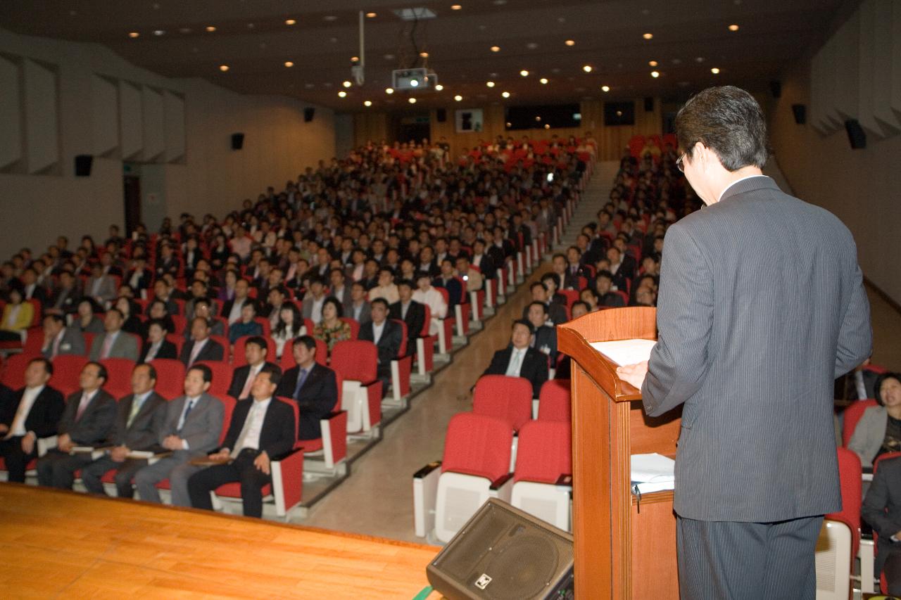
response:
M570 530L571 483L561 477L572 474L570 425L562 421L530 421L519 432L516 468L510 504Z

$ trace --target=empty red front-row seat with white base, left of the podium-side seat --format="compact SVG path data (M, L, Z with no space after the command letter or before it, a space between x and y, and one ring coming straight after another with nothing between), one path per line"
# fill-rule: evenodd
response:
M488 498L509 502L512 443L513 431L504 420L455 414L448 423L441 463L414 475L416 535L433 532L439 541L450 541Z

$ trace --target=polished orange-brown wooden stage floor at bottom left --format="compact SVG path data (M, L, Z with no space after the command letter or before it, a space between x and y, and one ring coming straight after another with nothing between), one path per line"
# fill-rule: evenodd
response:
M7 598L412 600L428 586L425 567L438 550L0 483L0 594Z

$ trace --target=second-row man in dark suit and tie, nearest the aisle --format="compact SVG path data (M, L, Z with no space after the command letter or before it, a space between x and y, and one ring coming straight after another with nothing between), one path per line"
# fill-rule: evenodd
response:
M331 368L316 362L313 336L296 338L293 350L296 367L285 371L276 394L293 398L300 409L297 439L318 440L323 437L319 421L331 414L338 403L338 382Z

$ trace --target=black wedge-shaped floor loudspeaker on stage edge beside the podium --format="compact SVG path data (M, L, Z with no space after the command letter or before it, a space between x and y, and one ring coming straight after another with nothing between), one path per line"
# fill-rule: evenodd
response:
M426 568L448 600L571 600L572 535L491 498Z

